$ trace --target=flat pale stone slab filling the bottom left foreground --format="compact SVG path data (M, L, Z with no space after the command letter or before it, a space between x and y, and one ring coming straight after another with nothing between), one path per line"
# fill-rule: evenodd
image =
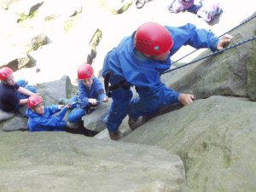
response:
M0 151L0 191L183 191L183 162L161 148L12 132L0 134Z

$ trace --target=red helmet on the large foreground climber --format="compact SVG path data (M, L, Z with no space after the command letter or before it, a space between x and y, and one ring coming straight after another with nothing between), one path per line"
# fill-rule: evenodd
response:
M170 32L158 23L144 23L135 34L136 49L147 55L161 55L172 49L172 45Z

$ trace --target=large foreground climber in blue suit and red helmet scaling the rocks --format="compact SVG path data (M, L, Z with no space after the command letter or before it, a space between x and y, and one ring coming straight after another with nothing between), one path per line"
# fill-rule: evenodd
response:
M123 38L116 48L108 52L102 69L105 84L111 84L106 91L111 90L113 99L104 119L109 137L112 140L122 137L119 125L127 113L131 130L134 130L141 125L139 117L155 113L163 105L192 103L193 95L176 92L160 80L160 74L172 65L170 57L188 44L196 49L224 49L231 38L230 35L216 38L212 32L197 29L192 24L172 27L154 22L144 23L130 37ZM135 85L139 95L132 101L131 85Z

